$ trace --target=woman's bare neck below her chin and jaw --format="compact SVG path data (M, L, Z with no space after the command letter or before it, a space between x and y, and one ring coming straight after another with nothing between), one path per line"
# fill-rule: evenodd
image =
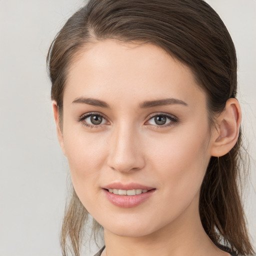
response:
M205 233L198 210L192 202L175 220L153 233L139 237L116 235L104 229L107 256L202 256L223 254Z

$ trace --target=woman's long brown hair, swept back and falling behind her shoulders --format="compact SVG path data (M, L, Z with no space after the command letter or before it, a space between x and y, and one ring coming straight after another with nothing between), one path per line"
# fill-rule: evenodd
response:
M203 0L89 0L67 20L47 55L51 98L57 103L60 125L69 66L88 43L104 39L149 42L190 67L206 92L211 127L226 100L236 97L232 39L218 14ZM253 255L239 194L241 154L240 130L235 146L209 161L200 190L199 213L204 230L215 244L227 245L239 255ZM62 223L63 255L67 255L69 240L74 255L79 256L87 215L73 190Z

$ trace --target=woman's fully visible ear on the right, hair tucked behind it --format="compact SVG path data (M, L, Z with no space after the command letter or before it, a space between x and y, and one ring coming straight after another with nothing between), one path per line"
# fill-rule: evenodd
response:
M231 150L239 135L241 108L235 98L226 101L225 109L217 117L216 123L210 153L212 156L221 156Z

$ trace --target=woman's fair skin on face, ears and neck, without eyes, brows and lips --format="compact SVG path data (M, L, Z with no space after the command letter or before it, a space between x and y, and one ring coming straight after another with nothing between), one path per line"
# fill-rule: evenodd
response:
M109 108L81 98L105 101ZM166 98L185 104L139 107ZM55 102L53 112L74 189L104 227L102 255L229 255L204 232L198 200L210 157L225 154L237 139L241 114L235 99L210 129L206 95L188 67L155 45L107 39L86 47L70 66L62 128ZM85 126L90 118L81 117L89 112L103 115L102 123ZM176 121L166 118L159 125L157 114ZM112 182L155 191L139 205L122 208L104 195Z

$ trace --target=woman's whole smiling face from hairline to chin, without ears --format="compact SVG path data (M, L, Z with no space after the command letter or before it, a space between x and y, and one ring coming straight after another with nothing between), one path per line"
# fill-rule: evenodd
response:
M191 221L209 141L205 93L161 48L104 40L71 65L60 143L105 230L143 236Z

